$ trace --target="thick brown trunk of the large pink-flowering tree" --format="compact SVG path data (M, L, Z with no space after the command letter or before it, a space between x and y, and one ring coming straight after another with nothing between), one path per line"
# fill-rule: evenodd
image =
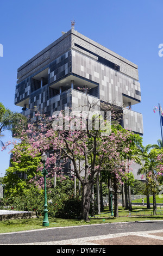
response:
M90 202L91 202L91 193L92 193L93 182L87 182L83 184L83 193L82 193L82 219L84 221L89 220L89 211L90 211Z

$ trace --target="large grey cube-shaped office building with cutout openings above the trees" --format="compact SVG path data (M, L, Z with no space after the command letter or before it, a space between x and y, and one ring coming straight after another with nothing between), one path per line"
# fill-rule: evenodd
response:
M78 87L90 88L90 100L113 103L124 113L122 126L143 134L137 65L72 28L17 70L15 105L34 117L34 106L51 115L86 103ZM122 107L123 106L123 107Z

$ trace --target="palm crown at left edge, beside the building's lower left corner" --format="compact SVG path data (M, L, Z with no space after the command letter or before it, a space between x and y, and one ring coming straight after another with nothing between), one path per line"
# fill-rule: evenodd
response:
M24 115L12 112L10 109L5 108L0 102L0 136L4 136L2 132L9 130L12 135L18 135L22 130L22 127L26 126L27 118ZM0 145L4 143L0 140Z

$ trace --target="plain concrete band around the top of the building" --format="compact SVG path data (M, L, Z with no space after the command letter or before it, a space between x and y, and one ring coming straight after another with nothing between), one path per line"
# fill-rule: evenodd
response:
M37 53L33 58L28 60L22 66L20 66L20 68L17 70L17 82L20 83L25 78L32 75L38 69L43 68L43 66L52 62L55 58L59 57L60 54L66 52L70 48L74 48L77 51L83 52L84 54L93 57L92 54L86 53L82 49L79 50L79 48L74 45L75 42L80 46L83 46L92 52L99 54L103 58L108 59L117 65L120 65L120 71L123 74L126 74L135 80L139 80L136 64L98 44L97 42L87 38L86 36L78 33L77 31L74 31L74 29L71 29L66 34L62 35L59 39L55 40L52 44L43 49L41 52ZM94 56L94 58L96 57Z

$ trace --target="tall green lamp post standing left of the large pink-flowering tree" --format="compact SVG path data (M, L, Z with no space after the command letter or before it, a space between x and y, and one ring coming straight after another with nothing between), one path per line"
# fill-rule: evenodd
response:
M41 156L41 160L43 163L43 170L42 170L42 174L43 174L43 178L44 178L44 190L45 190L45 203L44 203L44 210L43 210L43 222L42 225L43 227L48 227L49 226L49 221L48 221L48 209L47 209L47 195L46 195L46 175L47 175L47 170L45 168L45 163L47 160L47 155L45 153L42 154Z

